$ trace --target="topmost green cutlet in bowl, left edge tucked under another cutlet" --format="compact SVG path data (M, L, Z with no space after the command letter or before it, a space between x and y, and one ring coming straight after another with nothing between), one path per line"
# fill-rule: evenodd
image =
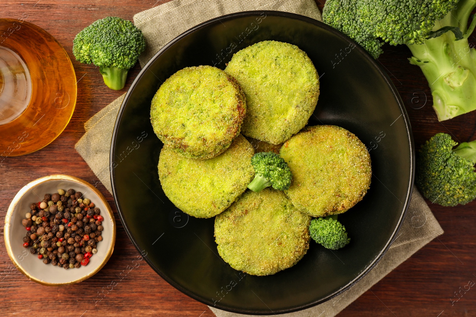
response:
M225 71L246 96L241 133L271 144L296 134L314 112L319 96L316 68L295 45L263 41L238 51Z

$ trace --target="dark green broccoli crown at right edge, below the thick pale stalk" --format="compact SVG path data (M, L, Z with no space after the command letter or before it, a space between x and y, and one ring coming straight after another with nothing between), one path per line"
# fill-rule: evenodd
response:
M423 196L442 206L466 204L476 198L476 141L457 143L438 133L419 150L416 183Z

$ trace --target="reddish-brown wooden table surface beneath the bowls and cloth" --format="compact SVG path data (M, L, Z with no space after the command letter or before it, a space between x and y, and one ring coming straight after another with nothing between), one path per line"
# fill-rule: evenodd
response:
M76 70L79 97L69 125L53 143L33 154L9 157L0 163L0 272L3 271L0 316L214 316L207 306L170 286L145 262L120 280L101 302L95 304L93 300L112 280L118 279L118 274L136 258L138 251L117 217L111 194L75 151L74 144L84 134L84 122L123 94L140 67L138 63L129 71L122 91L113 91L104 86L97 69L75 60L72 42L81 29L97 19L118 16L132 20L135 13L163 2L167 1L1 0L0 18L19 19L26 14L27 21L47 30L63 45ZM324 0L317 0L321 10L323 3ZM476 38L473 36L470 41L476 43ZM460 142L475 139L476 111L438 122L425 77L419 67L407 61L411 56L408 48L386 45L384 51L378 61L405 102L417 147L438 132L451 133ZM94 278L62 288L41 286L11 269L3 241L4 216L16 192L36 178L56 173L97 183L118 223L115 252L106 266ZM475 207L476 201L457 207L430 203L445 233L417 251L338 316L476 316L476 289L461 292L463 297L453 305L450 301L457 299L455 292L469 280L476 281Z

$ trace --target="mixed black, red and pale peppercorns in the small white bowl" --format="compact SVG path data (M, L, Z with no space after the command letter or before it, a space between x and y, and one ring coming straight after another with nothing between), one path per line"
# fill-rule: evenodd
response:
M23 247L31 247L45 264L64 269L88 265L102 240L104 218L99 214L99 208L74 189L45 194L43 201L30 204L21 221L27 230Z

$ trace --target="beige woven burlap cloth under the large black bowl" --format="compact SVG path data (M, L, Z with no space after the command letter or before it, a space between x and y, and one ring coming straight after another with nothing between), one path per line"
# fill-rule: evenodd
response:
M140 65L143 67L160 48L187 29L224 14L246 10L287 11L322 20L314 0L174 0L134 16L135 25L142 30L147 40L147 49L139 58ZM109 192L111 191L109 174L111 135L124 96L125 94L120 96L84 124L86 133L75 146ZM94 129L91 129L93 127ZM415 189L407 217L397 239L374 269L336 298L283 316L332 317L337 315L391 270L440 234L443 234L443 230ZM244 316L213 307L210 309L218 317Z

